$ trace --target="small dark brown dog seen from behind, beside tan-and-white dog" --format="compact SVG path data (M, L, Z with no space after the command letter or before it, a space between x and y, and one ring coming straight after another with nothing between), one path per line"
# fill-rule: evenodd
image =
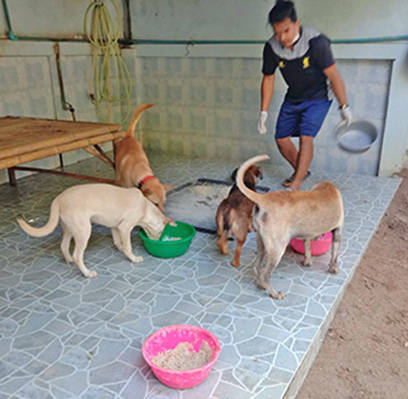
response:
M233 173L235 180L236 171ZM252 165L245 173L245 184L255 191L257 179L261 177L261 169ZM215 221L217 223L218 248L223 255L229 253L228 239L235 236L237 248L235 249L233 266L239 266L242 246L249 231L252 231L252 210L254 203L239 191L234 184L221 204L218 206Z

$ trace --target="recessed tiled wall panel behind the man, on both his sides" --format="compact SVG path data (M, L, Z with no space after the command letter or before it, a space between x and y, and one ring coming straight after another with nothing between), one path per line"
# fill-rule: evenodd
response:
M152 102L139 128L145 145L187 157L241 161L268 153L272 162L284 161L273 139L274 126L285 93L278 78L270 107L268 135L256 131L260 97L260 60L246 58L136 57L136 104ZM349 102L356 119L367 119L379 138L365 153L342 150L334 135L340 121L337 102L316 139L313 167L330 172L375 175L380 156L391 63L339 60Z

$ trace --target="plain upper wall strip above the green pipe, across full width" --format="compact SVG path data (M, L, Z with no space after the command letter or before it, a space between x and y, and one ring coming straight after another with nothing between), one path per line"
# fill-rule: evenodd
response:
M82 35L91 1L7 0L16 35ZM120 11L122 1L116 0ZM112 10L111 1L105 4ZM130 0L135 38L252 39L269 34L274 0ZM299 17L333 39L408 34L405 0L297 0ZM0 7L1 9L2 7ZM5 36L0 13L0 35Z

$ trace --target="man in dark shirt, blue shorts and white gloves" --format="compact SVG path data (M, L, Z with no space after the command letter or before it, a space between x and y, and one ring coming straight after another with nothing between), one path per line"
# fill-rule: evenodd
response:
M265 134L275 70L279 68L288 90L279 112L275 139L280 153L294 173L282 184L298 190L310 174L313 139L329 111L327 80L339 103L342 119L351 122L346 90L330 49L329 39L312 28L302 27L292 1L277 0L269 12L274 35L263 52L261 113L258 131ZM291 137L299 136L299 151Z

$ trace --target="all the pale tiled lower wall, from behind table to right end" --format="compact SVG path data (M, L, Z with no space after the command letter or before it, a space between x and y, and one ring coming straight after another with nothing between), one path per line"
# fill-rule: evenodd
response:
M286 90L277 78L270 107L268 135L256 130L259 112L261 60L258 58L147 57L129 50L125 60L133 77L132 108L151 102L138 126L143 130L147 152L163 152L189 158L222 158L240 161L268 153L272 163L285 164L277 151L274 125ZM89 101L91 57L61 57L67 101L78 120L98 120ZM391 62L339 60L349 101L357 118L370 120L379 139L363 154L338 147L334 128L339 121L337 103L316 139L312 168L329 172L377 173L388 99ZM0 115L71 119L60 102L54 57L0 58ZM114 122L125 112L113 109ZM84 151L65 155L66 163L86 157ZM37 161L56 166L55 157ZM44 165L44 162L48 165ZM0 171L4 177L4 171ZM0 175L0 179L2 176ZM4 178L3 178L4 180Z

